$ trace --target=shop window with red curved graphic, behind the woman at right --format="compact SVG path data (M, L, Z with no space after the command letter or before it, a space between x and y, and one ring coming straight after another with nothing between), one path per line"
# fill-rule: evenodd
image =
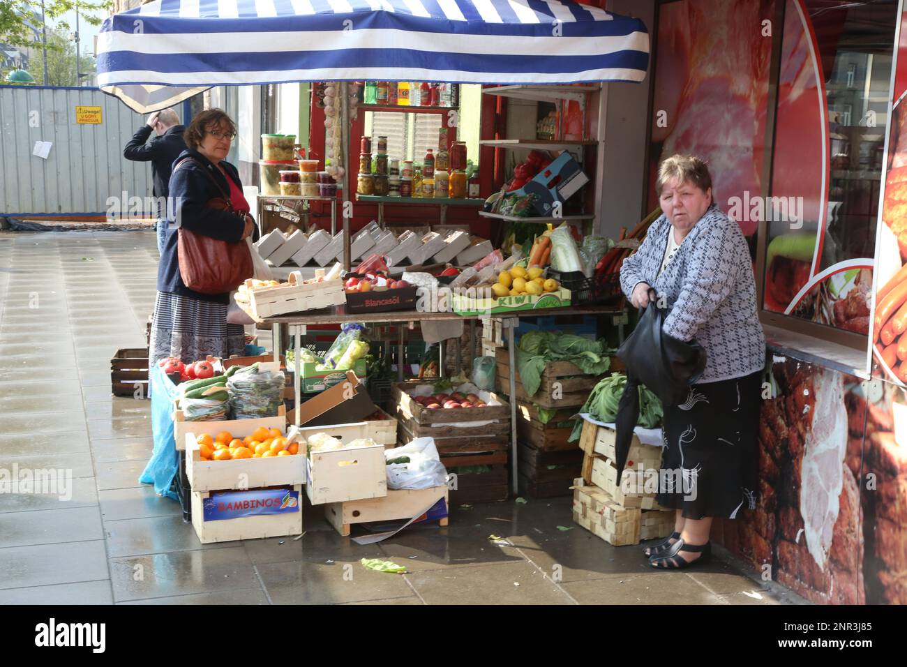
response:
M789 2L778 76L763 308L864 346L895 4ZM857 336L835 336L834 330Z

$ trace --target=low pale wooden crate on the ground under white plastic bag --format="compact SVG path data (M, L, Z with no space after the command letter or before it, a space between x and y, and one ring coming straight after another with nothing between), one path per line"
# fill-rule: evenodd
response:
M336 528L337 533L346 537L353 524L411 519L417 512L430 509L441 498L444 498L445 504L448 502L446 486L396 491L389 489L382 498L328 503L325 505L325 518L327 523ZM440 519L438 525L447 525L447 517Z

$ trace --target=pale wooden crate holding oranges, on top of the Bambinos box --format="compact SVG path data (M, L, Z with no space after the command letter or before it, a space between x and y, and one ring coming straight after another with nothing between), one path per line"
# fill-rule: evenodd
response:
M252 421L249 419L248 421ZM205 461L191 433L186 434L186 476L192 491L226 491L264 486L303 485L306 456L267 456Z

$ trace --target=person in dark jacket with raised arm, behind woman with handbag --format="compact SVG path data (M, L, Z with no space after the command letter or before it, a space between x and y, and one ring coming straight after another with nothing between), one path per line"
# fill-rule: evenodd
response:
M138 132L132 135L132 140L126 144L122 156L135 162L151 162L151 178L153 181L152 192L154 197L161 200L168 194L173 162L186 150L186 142L182 140L185 127L180 125L180 118L172 109L151 113L148 123L141 126ZM156 132L150 142L151 132ZM157 215L158 252L163 248L164 234L167 231L166 211L155 211Z

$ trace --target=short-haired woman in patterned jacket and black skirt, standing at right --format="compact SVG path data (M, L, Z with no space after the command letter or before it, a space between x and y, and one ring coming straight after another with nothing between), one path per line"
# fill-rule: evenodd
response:
M706 350L687 401L665 407L658 503L677 510L674 533L644 552L653 567L682 568L708 560L713 517L755 508L766 338L746 239L717 207L706 163L669 157L657 190L664 215L624 262L620 284L637 308L660 299L664 333Z

